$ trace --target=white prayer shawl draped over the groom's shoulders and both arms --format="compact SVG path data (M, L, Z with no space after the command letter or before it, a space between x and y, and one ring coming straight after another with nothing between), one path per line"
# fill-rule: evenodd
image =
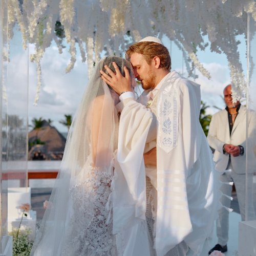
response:
M213 228L218 204L212 157L199 122L200 86L175 71L160 83L151 109L133 98L123 102L117 152L117 177L122 176L123 185L115 193L126 196L114 203L113 228L125 228L116 219L118 209L129 226L145 218L143 150L145 144L146 150L156 144L157 169L149 176L157 189L157 255L163 256L183 240L199 254Z

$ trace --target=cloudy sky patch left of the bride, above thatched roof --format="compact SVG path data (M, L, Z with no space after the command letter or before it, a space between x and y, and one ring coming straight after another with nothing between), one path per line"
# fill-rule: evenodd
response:
M69 63L68 49L59 54L56 46L47 49L41 61L42 87L37 106L33 105L36 93L36 66L28 60L28 52L13 44L15 53L8 64L8 113L26 117L27 108L29 120L36 117L50 118L60 132L66 132L66 127L59 123L64 114L73 114L79 104L87 84L87 64L77 58L77 64L69 73L65 69ZM12 50L12 49L11 49ZM29 49L33 52L33 47ZM28 84L29 65L29 92ZM28 95L28 96L27 96ZM29 99L27 103L27 98Z

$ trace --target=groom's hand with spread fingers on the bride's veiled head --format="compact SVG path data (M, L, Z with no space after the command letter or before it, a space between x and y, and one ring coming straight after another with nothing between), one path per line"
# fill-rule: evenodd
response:
M122 76L115 62L113 62L113 66L116 71L115 73L108 66L104 66L106 71L109 72L109 75L100 70L102 80L108 83L113 88L113 90L118 94L122 92L132 92L131 77L129 74L129 70L126 67L124 67L124 76Z

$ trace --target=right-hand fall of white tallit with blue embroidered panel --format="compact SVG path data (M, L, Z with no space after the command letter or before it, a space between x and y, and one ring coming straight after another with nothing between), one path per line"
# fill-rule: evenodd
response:
M158 96L156 250L200 253L217 216L217 184L199 122L200 86L173 71Z

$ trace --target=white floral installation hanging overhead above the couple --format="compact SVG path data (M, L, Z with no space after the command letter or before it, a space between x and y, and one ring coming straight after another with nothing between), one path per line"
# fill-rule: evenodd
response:
M196 67L210 78L197 57L197 50L209 42L212 52L227 57L233 98L245 91L237 36L246 39L247 15L256 21L254 0L9 0L8 5L9 38L18 24L23 47L35 46L30 57L37 67L35 101L41 86L40 60L52 41L61 53L63 38L70 52L66 72L74 67L76 49L82 61L87 59L90 74L102 51L122 56L132 42L165 35L183 51L188 74L193 76Z

